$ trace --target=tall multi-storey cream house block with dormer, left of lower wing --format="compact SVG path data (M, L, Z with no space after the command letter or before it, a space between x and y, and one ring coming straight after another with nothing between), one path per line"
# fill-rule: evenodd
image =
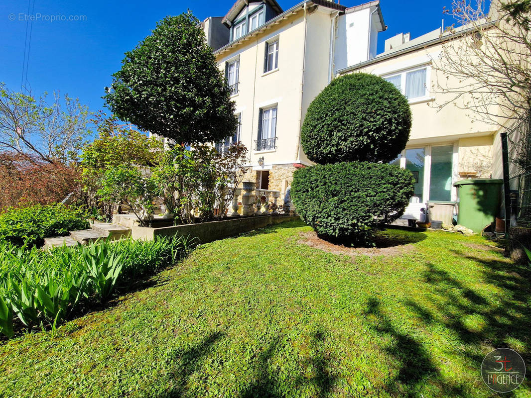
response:
M238 0L202 25L240 121L220 149L242 142L247 179L283 194L293 172L311 165L300 145L311 101L339 70L376 56L378 32L386 29L379 1L347 7L308 0L284 11L275 0Z

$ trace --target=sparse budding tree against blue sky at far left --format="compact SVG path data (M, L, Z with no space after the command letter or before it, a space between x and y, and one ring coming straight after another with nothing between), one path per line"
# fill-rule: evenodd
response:
M66 163L77 157L87 136L88 107L67 95L61 103L47 93L39 99L15 92L0 83L0 149Z

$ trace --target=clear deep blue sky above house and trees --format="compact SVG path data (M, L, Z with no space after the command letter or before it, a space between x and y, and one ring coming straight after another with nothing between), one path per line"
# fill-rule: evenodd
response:
M363 1L341 0L353 6ZM281 0L284 10L298 0ZM35 0L34 15L41 15L32 23L28 82L32 93L59 90L78 97L91 110L102 109L100 98L104 87L111 82L111 74L121 66L124 51L132 49L139 40L155 28L156 21L166 15L177 15L190 8L201 20L208 16L224 15L233 0L164 1L151 0ZM383 41L400 32L411 32L412 38L453 23L443 15L443 6L451 0L381 0L382 13L388 25L379 35L378 52ZM26 0L0 2L0 82L19 90L27 22L19 14L28 12ZM30 11L31 13L31 11ZM13 14L13 15L10 15ZM69 15L82 16L83 21L60 21ZM12 21L11 19L14 19ZM45 20L46 19L46 20ZM56 19L53 21L52 19Z

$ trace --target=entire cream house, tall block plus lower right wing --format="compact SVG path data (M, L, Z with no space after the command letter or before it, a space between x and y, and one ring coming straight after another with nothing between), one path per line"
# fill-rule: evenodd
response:
M311 165L300 145L307 107L332 79L356 72L383 77L409 100L410 139L393 161L410 169L416 181L405 218L418 219L428 202L456 212L457 180L500 176L498 128L473 121L463 109L437 106L451 94L434 90L446 76L433 62L444 42L462 39L466 28L460 34L440 28L418 38L401 33L377 54L378 33L387 28L378 0L352 7L307 0L287 11L275 0L238 0L203 28L240 121L220 149L234 142L250 149L246 179L257 188L283 195L293 172Z

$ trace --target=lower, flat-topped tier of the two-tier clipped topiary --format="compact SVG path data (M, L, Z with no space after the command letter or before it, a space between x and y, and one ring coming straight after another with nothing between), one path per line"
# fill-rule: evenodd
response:
M302 219L320 235L357 241L398 219L414 186L409 170L340 162L297 170L291 192Z

